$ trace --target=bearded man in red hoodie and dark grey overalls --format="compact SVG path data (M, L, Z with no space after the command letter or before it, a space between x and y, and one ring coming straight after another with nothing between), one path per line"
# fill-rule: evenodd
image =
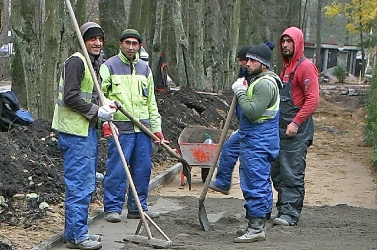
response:
M300 218L305 194L305 159L313 142L313 117L319 102L316 66L304 56L302 31L289 27L280 37L284 87L280 98L280 153L271 167L277 195L274 225L293 226ZM272 216L271 216L272 217Z

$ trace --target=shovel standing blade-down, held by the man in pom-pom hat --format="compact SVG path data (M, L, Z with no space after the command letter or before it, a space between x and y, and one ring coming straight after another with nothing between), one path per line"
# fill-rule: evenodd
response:
M221 131L220 141L219 141L219 144L217 146L215 155L213 157L213 162L211 164L211 168L208 172L207 179L205 179L204 187L203 187L202 193L200 194L200 197L199 197L199 222L200 222L200 225L202 226L202 229L204 231L211 230L210 222L208 221L207 212L205 212L205 207L204 207L205 196L207 195L208 187L210 186L210 182L211 182L211 179L212 179L213 172L215 172L216 163L219 159L221 149L222 149L222 145L224 145L225 136L227 135L229 125L230 125L231 119L233 117L234 110L236 109L236 104L237 104L237 96L234 95L232 103L231 103L230 108L229 108L227 119L225 120L224 128Z

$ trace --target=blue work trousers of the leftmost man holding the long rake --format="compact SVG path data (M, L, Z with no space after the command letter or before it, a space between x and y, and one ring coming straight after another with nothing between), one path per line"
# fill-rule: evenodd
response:
M63 152L66 184L64 235L67 241L77 244L89 239L87 220L95 189L97 130L90 127L87 137L59 133L58 148Z

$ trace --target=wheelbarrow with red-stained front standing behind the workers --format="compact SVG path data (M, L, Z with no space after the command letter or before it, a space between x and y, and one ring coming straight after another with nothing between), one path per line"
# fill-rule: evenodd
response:
M207 178L211 167L213 156L215 155L218 142L220 140L222 129L205 128L205 127L187 127L179 135L178 144L181 149L183 159L192 167L201 168L201 177L203 183ZM233 130L228 130L228 139ZM213 144L203 143L206 139L205 134L209 134ZM218 163L216 163L216 166ZM184 175L181 173L181 186L184 186Z

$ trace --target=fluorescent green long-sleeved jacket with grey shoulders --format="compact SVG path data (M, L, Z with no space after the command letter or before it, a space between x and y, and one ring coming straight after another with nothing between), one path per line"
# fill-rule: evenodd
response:
M161 131L152 71L148 64L139 60L139 53L132 63L120 52L101 65L102 91L106 98L118 100L135 119L154 132ZM140 132L124 114L117 111L114 122L120 133Z

